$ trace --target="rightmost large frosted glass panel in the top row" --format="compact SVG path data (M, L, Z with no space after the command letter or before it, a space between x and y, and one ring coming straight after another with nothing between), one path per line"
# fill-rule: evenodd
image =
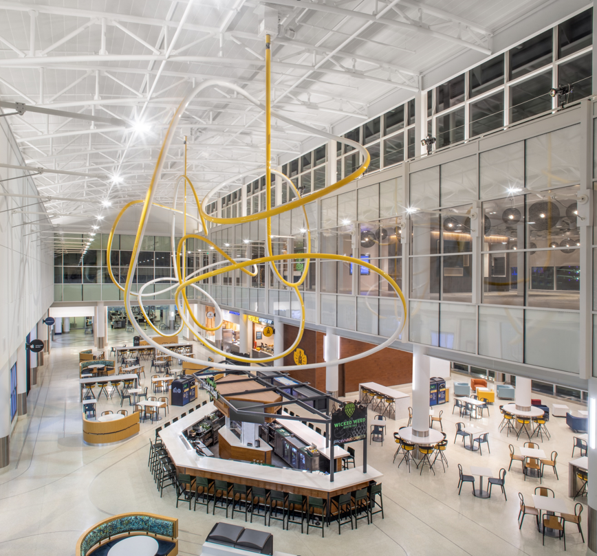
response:
M580 181L580 124L526 140L526 186L545 190Z

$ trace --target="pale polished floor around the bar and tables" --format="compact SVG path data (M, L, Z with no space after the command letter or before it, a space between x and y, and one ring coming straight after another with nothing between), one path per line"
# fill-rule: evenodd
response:
M120 336L120 335L119 335ZM149 438L158 424L142 424L138 436L110 447L91 447L83 444L81 409L78 401L78 351L90 346L90 336L82 331L56 337L50 357L39 372L38 384L28 398L28 416L18 421L12 434L11 463L0 474L0 556L72 555L80 534L92 524L115 513L149 511L179 519L180 554L199 555L206 534L217 521L226 520L222 511L215 516L204 510L196 512L188 507L176 509L173 491L164 492L164 498L155 489L147 467ZM116 341L112 337L112 341ZM122 334L119 342L131 341ZM132 342L131 342L132 343ZM144 381L151 384L149 372ZM367 381L367 377L363 377ZM461 376L455 377L462 380ZM408 388L404 388L408 391ZM202 394L205 395L205 394ZM541 396L548 404L552 400ZM558 403L558 402L556 402ZM116 397L98 404L102 410L120 408ZM567 403L573 408L572 403ZM499 432L501 416L498 404L490 406L491 416L479 420L490 432L491 453L483 450L469 452L462 442L453 443L458 412L451 414L452 403L443 409L444 432L448 434L449 467L445 473L436 465L435 476L427 468L420 471L405 467L398 469L398 460L392 463L395 452L393 432L405 425L404 421L390 421L388 435L383 445L368 447L369 465L384 473L382 479L385 519L376 515L374 523L367 526L359 522L358 531L344 526L338 537L337 526L310 535L302 534L299 526L282 531L280 522L265 528L256 520L255 529L274 533L274 549L301 556L339 555L483 555L518 556L563 553L561 541L545 539L536 531L532 516L527 516L519 531L519 491L531 502L539 479L523 480L520 463L514 463L506 475L504 500L499 489L494 489L490 499L474 498L470 485L465 484L458 496L458 467L464 473L470 465L490 467L495 474L501 467L508 469L510 461L508 444L522 446L506 431ZM580 408L579 409L583 409ZM184 408L170 408L169 417L180 414ZM436 413L437 414L437 413ZM373 414L370 414L371 418ZM465 420L468 422L468 418ZM163 423L164 421L160 422ZM435 425L437 428L437 424ZM543 485L550 487L556 497L563 498L569 511L574 502L567 496L568 465L572 453L574 434L565 419L552 418L549 423L551 440L539 441L547 454L558 452L556 480L547 470ZM357 449L357 463L362 450ZM577 450L578 452L578 450ZM578 456L578 454L577 454ZM478 482L478 480L477 480ZM581 500L586 504L586 498ZM587 507L584 506L583 531L587 535ZM237 517L237 523L242 518ZM567 553L585 554L586 544L574 526L567 526Z

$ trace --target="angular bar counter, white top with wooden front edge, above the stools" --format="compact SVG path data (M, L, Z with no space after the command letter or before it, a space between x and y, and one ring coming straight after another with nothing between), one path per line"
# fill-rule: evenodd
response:
M334 482L330 482L329 476L318 473L197 456L182 433L216 409L213 402L206 403L160 431L164 447L180 473L328 499L365 488L369 481L382 477L369 465L367 473L362 472L362 467L353 467L334 474Z

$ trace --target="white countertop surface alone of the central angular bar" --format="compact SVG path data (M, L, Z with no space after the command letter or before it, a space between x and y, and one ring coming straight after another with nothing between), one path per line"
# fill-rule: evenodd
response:
M276 482L280 485L323 492L352 487L369 480L378 480L383 476L382 473L370 465L367 467L367 473L362 472L362 467L351 467L351 469L345 469L345 471L337 471L334 474L334 482L330 482L329 476L326 475L303 473L294 469L272 469L272 467L253 465L248 462L197 456L194 449L190 446L187 448L184 445L182 432L215 410L213 402L206 403L193 413L160 431L160 438L162 438L164 447L166 447L176 467L188 467L206 473L225 474L232 478Z

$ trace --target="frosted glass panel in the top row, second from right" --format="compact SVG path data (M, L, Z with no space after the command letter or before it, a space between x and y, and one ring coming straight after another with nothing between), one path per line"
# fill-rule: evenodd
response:
M524 153L522 141L479 155L481 199L505 197L524 187Z

